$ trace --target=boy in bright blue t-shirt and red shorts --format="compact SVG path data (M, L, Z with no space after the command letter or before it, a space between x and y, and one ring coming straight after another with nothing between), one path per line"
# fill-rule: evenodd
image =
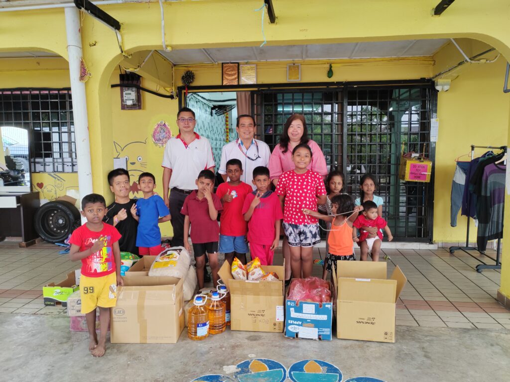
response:
M161 247L161 231L158 224L170 220L170 211L159 195L154 194L156 179L151 173L142 173L138 177L138 189L143 199L136 201L138 215L138 232L136 246L140 255L159 255Z

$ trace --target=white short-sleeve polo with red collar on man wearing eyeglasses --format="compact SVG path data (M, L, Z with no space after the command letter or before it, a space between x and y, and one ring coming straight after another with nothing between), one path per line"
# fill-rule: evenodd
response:
M181 134L166 143L161 166L172 170L169 187L196 189L195 180L202 170L214 167L213 150L205 137L195 132L196 139L189 145Z

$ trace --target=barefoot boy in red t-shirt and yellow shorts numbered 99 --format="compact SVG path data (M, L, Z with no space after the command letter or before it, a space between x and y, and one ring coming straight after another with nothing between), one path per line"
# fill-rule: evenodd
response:
M72 261L82 260L80 297L82 313L89 330L89 351L102 357L106 351L106 334L110 325L110 308L117 302L117 286L124 285L120 277L120 233L103 224L107 212L105 198L90 194L82 199L82 215L87 223L74 230L69 239ZM99 341L95 328L96 308L99 308Z

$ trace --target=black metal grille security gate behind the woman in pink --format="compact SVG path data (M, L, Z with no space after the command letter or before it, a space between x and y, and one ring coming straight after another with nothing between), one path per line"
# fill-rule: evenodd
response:
M398 167L402 149L433 159L430 118L434 96L428 83L259 90L252 93L252 110L259 139L271 150L287 118L303 114L310 138L322 147L328 169L345 174L346 192L359 197L360 178L373 174L379 183L376 195L384 199L383 215L395 239L430 241L433 177L430 183L403 182Z

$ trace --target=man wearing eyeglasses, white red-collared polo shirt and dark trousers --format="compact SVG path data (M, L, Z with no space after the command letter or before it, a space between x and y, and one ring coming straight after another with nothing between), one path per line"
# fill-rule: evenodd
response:
M184 245L184 200L197 189L196 178L200 171L214 172L214 157L208 139L198 135L195 112L183 107L177 113L179 134L168 140L163 154L163 199L172 216L174 247ZM170 197L168 190L170 189Z

